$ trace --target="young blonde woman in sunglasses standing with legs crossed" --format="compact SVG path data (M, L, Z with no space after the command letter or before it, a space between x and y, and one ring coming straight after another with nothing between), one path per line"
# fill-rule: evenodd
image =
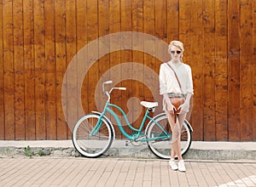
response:
M181 155L180 134L186 114L189 111L189 100L193 94L192 73L190 66L184 64L182 60L184 52L183 42L170 42L168 52L171 54L172 59L160 65L159 77L160 94L163 95L163 109L166 111L168 122L172 129L172 151L169 164L172 170L185 172L186 167ZM177 77L173 71L175 71ZM171 98L184 98L184 103L176 109L172 105ZM178 164L176 164L174 159L175 156L177 156Z

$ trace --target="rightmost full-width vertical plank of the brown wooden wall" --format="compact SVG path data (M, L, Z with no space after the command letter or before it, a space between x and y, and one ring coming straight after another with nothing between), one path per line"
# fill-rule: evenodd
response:
M241 140L251 141L253 118L253 2L241 0L241 55L240 55L240 87L241 87ZM255 76L255 75L254 75Z

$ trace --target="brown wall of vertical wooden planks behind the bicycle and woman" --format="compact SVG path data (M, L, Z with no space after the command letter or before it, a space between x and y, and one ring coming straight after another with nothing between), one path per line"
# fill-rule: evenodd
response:
M194 140L256 140L254 0L1 0L0 139L70 139L61 105L67 65L86 44L119 31L184 43L183 60L192 67L195 87ZM125 62L156 73L161 63L136 50L98 59L84 77L84 112L96 110L96 83L102 75ZM133 64L115 72L124 73L146 77ZM153 99L143 82L130 79L119 85L127 91L114 93L113 101L125 112L131 97ZM76 110L77 101L66 97ZM136 107L132 111L139 112Z

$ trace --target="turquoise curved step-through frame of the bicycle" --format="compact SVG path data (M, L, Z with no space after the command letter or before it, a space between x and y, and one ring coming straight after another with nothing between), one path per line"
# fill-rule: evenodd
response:
M111 110L109 107L116 108L121 112L121 114L125 117L125 123L128 125L128 127L131 128L131 130L136 132L135 135L130 135L130 134L125 132L125 129L122 127L122 124L119 120L119 116L117 116L115 114L115 112L113 110ZM125 111L123 111L118 105L113 105L113 104L109 103L109 101L106 102L106 105L105 105L105 107L104 107L104 109L101 113L101 116L99 117L99 119L96 123L96 127L94 127L92 129L92 131L90 133L90 136L96 135L96 133L99 132L100 128L102 127L102 118L106 115L106 112L110 113L114 117L115 121L118 124L118 127L119 127L121 133L123 133L127 139L145 142L145 141L153 141L153 140L156 140L156 139L169 139L169 138L171 138L171 134L166 133L166 130L163 127L161 127L158 122L156 122L154 120L154 117L148 116L148 114L150 112L148 109L145 112L145 115L143 116L143 122L141 123L140 127L137 129L137 128L131 126L130 122L127 119ZM155 138L147 138L147 137L140 138L140 137L145 136L145 134L143 133L143 126L146 122L146 119L149 119L150 122L155 122L160 127L160 129L162 130L162 132L161 132L162 135L161 136L157 136Z

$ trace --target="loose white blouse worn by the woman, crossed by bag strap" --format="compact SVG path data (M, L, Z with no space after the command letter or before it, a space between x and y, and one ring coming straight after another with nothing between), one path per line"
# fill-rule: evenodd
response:
M183 91L180 90L177 78L175 77L172 69L169 67L169 65L163 63L160 65L159 73L160 94L194 94L190 66L183 63L182 65L176 67L173 65L172 60L167 63L171 65L173 70L176 72Z

